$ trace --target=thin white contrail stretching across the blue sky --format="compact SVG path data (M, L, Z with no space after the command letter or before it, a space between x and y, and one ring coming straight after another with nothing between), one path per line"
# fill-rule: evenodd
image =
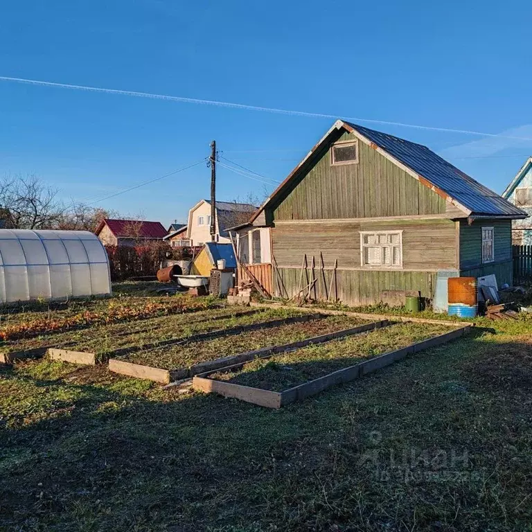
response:
M230 103L230 102L222 102L218 100L203 100L200 98L186 98L184 96L168 96L166 94L153 94L149 92L124 91L124 90L119 90L119 89L103 89L101 87L90 87L88 85L72 85L70 83L56 83L56 82L51 82L51 81L30 80L26 78L12 78L10 76L0 76L0 81L28 83L30 85L40 85L43 87L58 87L61 89L78 89L82 91L103 92L107 94L123 94L125 96L137 96L139 98L152 98L156 100L168 100L168 101L181 102L181 103L195 103L199 105L215 105L217 107L231 107L232 109L247 109L248 111L262 111L262 112L276 113L276 114L287 114L290 116L308 116L312 118L338 118L337 114L322 114L322 113L311 113L311 112L304 112L304 111L293 111L289 109L276 109L275 107L261 107L258 105L247 105L244 103ZM406 124L402 122L375 120L373 118L360 118L360 117L354 117L354 116L347 116L345 119L355 121L355 122L369 122L369 123L374 123L374 124L395 125L399 127L412 127L417 130L441 131L441 132L447 132L447 133L463 133L463 134L477 135L477 136L493 136L493 137L499 137L500 139L517 139L520 141L532 141L532 138L524 137L524 136L501 135L501 134L484 133L484 132L472 131L472 130L456 130L450 127L433 127L433 126L428 126L428 125Z

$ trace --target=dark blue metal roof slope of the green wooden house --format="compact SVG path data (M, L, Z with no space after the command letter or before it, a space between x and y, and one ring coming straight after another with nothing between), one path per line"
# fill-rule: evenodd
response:
M524 211L442 159L427 146L370 130L362 125L348 122L345 124L443 190L456 202L469 209L472 215L515 216L516 218L526 216Z

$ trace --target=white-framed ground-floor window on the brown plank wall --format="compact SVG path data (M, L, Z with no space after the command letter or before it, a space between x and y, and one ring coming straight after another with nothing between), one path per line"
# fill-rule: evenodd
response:
M360 265L402 268L402 231L360 231Z

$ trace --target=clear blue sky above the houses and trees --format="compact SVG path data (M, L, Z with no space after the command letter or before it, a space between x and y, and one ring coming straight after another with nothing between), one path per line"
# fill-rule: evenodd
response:
M0 7L0 76L504 134L360 121L500 193L532 154L506 138L532 139L531 19L524 0L18 0ZM203 163L103 198L199 161L212 139L281 181L332 122L1 81L0 175L167 224L208 197ZM219 199L249 192L263 183L219 168Z

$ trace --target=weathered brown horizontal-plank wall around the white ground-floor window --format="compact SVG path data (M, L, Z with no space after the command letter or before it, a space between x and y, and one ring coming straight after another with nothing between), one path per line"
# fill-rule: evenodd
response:
M321 252L325 267L332 267L338 259L339 269L360 268L360 231L400 229L403 269L435 271L458 267L456 227L445 219L281 222L272 228L274 257L279 267L297 268L305 254L318 261Z

